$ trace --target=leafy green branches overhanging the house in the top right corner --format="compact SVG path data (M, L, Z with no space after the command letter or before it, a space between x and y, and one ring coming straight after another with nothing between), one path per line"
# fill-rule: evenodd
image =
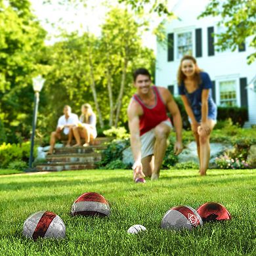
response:
M256 49L256 0L212 0L199 18L205 16L221 16L219 26L224 26L226 31L217 35L216 45L222 51L243 47L245 40L250 40L249 45ZM256 51L247 56L247 62L255 61Z

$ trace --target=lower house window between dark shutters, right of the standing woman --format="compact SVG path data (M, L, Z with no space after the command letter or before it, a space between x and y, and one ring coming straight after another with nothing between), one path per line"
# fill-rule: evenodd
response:
M220 81L220 105L237 106L236 80Z

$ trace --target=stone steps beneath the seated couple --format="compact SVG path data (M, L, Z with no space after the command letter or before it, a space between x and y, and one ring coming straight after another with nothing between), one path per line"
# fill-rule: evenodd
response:
M70 171L96 169L102 159L101 152L107 148L109 138L96 138L87 147L56 148L54 154L46 157L45 162L35 163L37 171Z

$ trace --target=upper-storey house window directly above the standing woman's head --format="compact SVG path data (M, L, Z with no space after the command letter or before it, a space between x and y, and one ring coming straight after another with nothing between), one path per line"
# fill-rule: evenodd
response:
M177 58L182 58L185 54L192 55L192 32L177 34Z

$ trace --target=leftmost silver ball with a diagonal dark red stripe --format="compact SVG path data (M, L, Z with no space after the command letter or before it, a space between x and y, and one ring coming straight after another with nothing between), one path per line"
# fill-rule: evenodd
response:
M65 238L66 227L62 219L51 211L38 211L26 219L23 234L34 241L37 238Z

